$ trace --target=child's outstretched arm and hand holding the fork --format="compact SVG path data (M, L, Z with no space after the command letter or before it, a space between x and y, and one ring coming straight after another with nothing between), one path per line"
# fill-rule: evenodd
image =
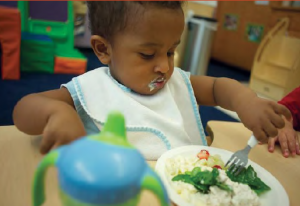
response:
M284 126L281 115L290 119L291 114L284 106L258 98L249 88L228 78L191 76L191 83L198 104L220 105L237 112L243 124L253 131L261 142L278 134Z

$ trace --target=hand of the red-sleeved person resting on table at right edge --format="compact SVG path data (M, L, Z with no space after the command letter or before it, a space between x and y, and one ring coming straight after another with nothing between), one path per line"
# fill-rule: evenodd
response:
M278 135L273 138L269 138L268 148L270 152L274 152L275 143L278 141L281 147L282 155L288 157L290 153L292 155L300 155L299 139L296 131L293 128L293 122L285 120L284 128L278 131Z

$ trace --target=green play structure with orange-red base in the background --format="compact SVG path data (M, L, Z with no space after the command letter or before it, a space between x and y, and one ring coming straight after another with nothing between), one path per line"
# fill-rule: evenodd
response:
M54 14L54 12L48 9L51 7L59 8L60 13L57 11ZM47 35L54 42L54 73L82 74L86 71L86 57L74 48L74 12L72 1L18 1L18 8L21 12L22 32ZM36 8L43 9L43 11L37 11ZM62 20L49 19L49 16L58 18L59 15L64 14L66 15Z

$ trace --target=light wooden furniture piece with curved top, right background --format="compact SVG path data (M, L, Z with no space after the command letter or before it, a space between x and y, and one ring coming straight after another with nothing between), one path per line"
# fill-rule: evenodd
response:
M259 45L250 88L278 101L300 85L300 39L287 35L289 18L281 19Z

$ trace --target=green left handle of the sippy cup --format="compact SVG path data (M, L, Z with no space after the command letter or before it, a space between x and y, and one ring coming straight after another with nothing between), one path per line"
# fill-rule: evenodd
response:
M32 204L33 206L41 206L45 201L44 181L48 167L55 165L59 156L59 152L54 150L48 153L40 162L34 174L32 188Z

